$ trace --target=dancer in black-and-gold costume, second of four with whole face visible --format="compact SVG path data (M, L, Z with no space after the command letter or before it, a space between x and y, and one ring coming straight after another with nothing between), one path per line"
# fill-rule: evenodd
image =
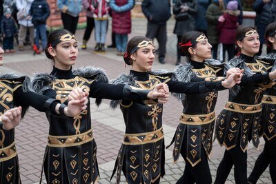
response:
M230 88L235 84L231 74L225 81L201 83L183 83L172 81L166 74L150 72L155 59L155 47L146 37L133 37L128 42L124 61L132 65L129 75L122 74L113 83L125 83L135 88L152 89L157 83L167 83L170 92L206 93L223 90L221 84ZM228 84L226 84L228 83ZM127 183L159 183L164 176L164 134L162 128L161 104L145 105L132 101L112 101L111 107L120 104L126 124L126 134L119 150L115 169L117 183L121 170ZM112 177L111 177L112 178Z

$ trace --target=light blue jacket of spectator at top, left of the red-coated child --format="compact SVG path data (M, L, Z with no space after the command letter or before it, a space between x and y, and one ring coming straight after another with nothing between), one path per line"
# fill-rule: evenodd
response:
M78 17L81 12L81 0L57 0L57 8L72 17Z

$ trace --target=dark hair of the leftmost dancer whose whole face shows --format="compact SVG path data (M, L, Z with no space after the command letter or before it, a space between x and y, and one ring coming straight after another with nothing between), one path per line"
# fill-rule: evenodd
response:
M59 44L61 42L59 39L64 34L74 35L74 34L72 34L72 32L65 30L65 29L54 30L53 32L50 32L50 34L48 36L48 43L47 43L46 47L44 48L44 52L46 54L46 57L48 57L48 59L54 60L54 57L52 57L52 55L48 52L48 48L49 47L56 48L57 44Z

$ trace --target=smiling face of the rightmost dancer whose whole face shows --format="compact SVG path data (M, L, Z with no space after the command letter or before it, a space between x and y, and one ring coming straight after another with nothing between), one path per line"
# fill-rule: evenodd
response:
M241 49L242 54L254 57L259 52L259 34L254 33L248 37L244 37L242 41L237 41L237 45Z

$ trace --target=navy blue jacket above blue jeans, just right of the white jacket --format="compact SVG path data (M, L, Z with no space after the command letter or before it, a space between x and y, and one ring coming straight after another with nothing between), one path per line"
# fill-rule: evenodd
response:
M32 16L32 23L45 24L50 15L49 6L46 0L34 0L30 6L29 15Z

